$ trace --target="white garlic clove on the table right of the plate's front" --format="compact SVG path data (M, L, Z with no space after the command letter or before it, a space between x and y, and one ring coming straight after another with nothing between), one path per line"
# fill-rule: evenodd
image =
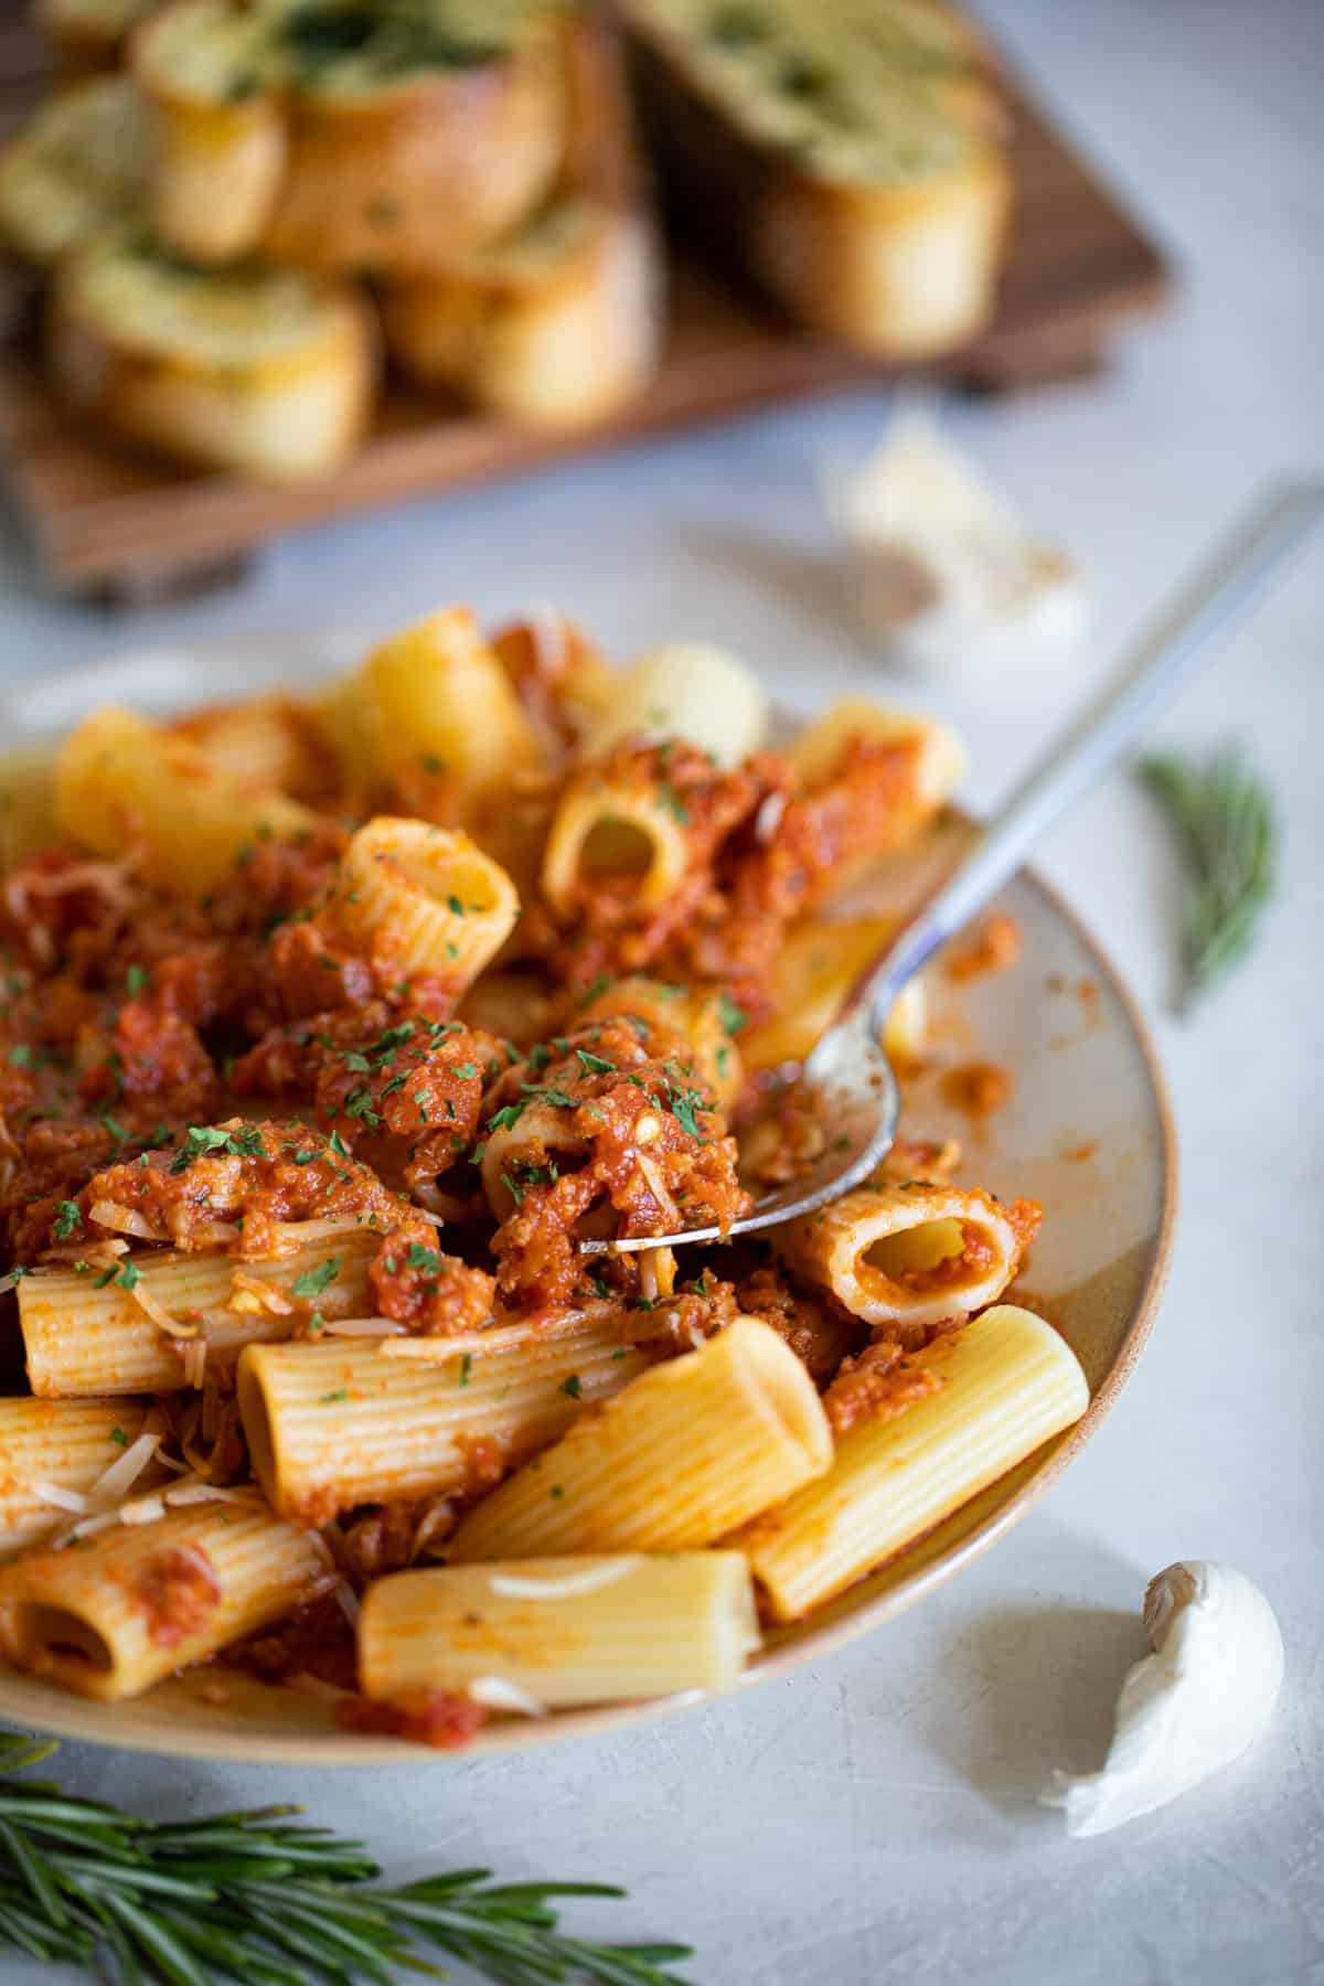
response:
M1282 1634L1258 1587L1181 1559L1145 1587L1153 1654L1127 1672L1102 1772L1054 1773L1042 1795L1068 1835L1102 1835L1189 1793L1255 1744L1282 1688Z

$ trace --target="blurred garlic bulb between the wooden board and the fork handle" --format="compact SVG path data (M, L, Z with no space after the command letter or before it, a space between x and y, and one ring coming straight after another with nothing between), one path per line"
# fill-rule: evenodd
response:
M826 498L854 552L860 612L905 657L989 659L1080 634L1080 572L943 439L925 401L903 405L881 449L830 479Z

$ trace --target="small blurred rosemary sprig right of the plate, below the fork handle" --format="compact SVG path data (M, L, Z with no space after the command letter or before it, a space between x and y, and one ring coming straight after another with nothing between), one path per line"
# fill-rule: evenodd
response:
M1175 753L1141 759L1139 777L1187 864L1181 961L1189 1007L1255 943L1257 918L1274 890L1278 826L1264 782L1233 747L1205 765Z

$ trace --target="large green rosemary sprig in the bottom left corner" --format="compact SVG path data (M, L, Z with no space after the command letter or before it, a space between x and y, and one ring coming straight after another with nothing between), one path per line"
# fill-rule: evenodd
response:
M0 1773L58 1746L0 1732ZM389 1986L397 1966L445 1972L433 1946L496 1986L683 1986L683 1944L568 1938L560 1897L619 1897L601 1883L492 1883L457 1869L403 1889L359 1841L290 1825L298 1807L143 1821L73 1799L48 1779L0 1777L0 1944L46 1964L99 1966L119 1986Z

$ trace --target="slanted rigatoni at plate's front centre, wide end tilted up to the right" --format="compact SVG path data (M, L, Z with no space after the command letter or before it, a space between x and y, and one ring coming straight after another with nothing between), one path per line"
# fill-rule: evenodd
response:
M806 1368L770 1325L738 1317L484 1497L461 1523L453 1559L711 1545L830 1462Z

